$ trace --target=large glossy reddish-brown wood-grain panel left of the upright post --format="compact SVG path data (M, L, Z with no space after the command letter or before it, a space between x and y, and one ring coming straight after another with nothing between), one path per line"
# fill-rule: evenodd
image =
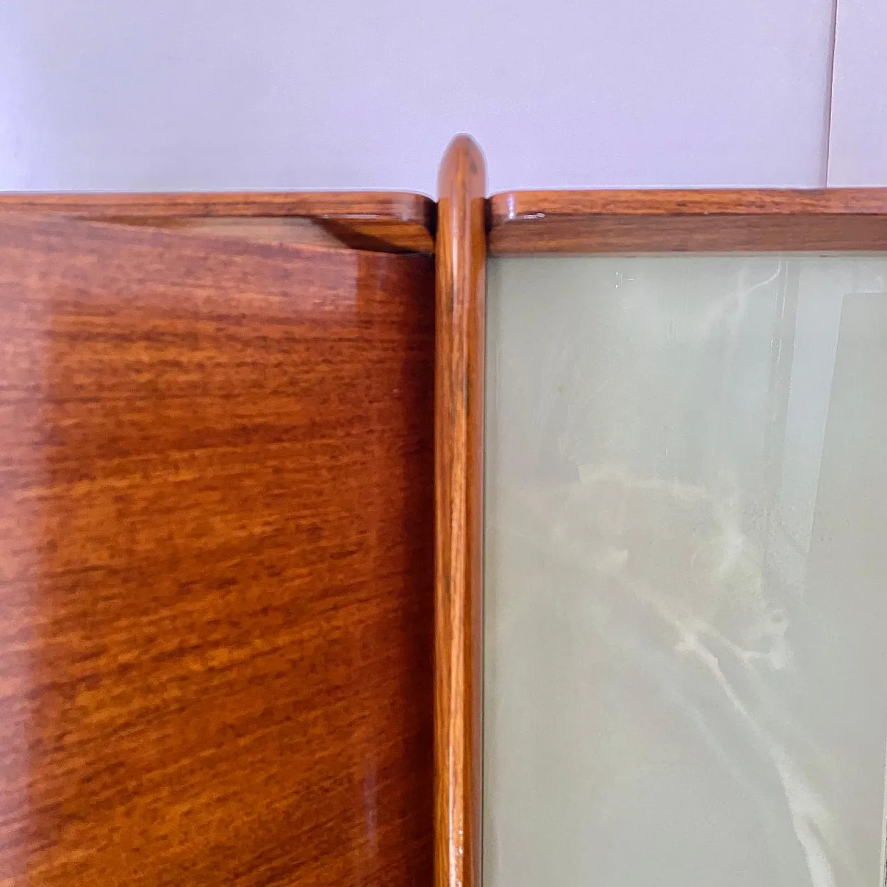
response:
M429 883L433 274L0 217L0 883Z

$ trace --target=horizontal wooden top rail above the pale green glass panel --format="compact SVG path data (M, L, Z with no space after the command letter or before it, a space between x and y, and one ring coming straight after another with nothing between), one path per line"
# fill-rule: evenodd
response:
M490 200L490 250L877 250L887 189L526 191Z

